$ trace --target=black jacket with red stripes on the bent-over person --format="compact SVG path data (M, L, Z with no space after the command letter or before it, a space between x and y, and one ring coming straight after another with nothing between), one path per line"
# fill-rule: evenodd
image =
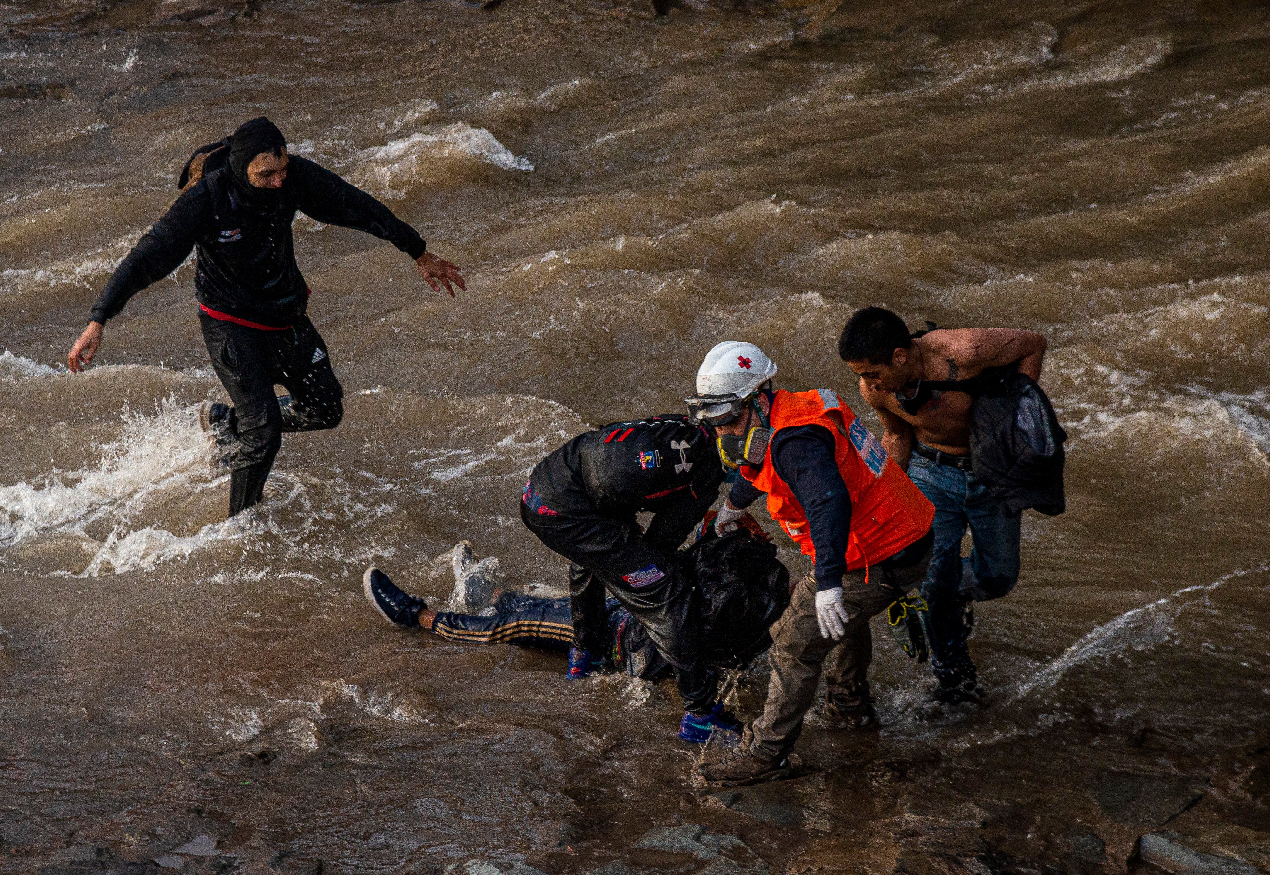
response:
M669 530L669 519L658 522L678 546L719 497L723 479L710 433L667 414L579 434L538 462L527 495L542 516L625 518L650 511L682 517Z

